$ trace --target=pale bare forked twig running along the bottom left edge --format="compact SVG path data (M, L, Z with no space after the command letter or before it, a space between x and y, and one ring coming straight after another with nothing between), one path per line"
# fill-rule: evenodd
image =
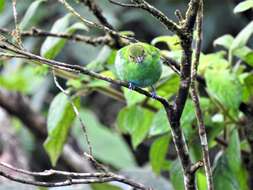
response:
M56 182L48 182L48 181L35 181L31 179L27 179L27 177L17 177L14 174L8 174L7 172L0 170L0 175L6 177L10 180L17 181L24 184L43 186L43 187L60 187L60 186L70 186L73 184L90 184L90 183L105 183L105 182L121 182L127 184L133 188L141 189L141 190L150 190L151 188L145 187L140 183L136 183L131 179L128 179L124 176L117 175L114 173L76 173L76 172L66 172L59 170L45 170L44 172L31 172L27 170L23 170L20 168L15 168L6 163L1 163L0 166L7 168L15 173L25 174L28 176L34 177L50 177L52 175L58 175L65 177L65 179L59 178Z

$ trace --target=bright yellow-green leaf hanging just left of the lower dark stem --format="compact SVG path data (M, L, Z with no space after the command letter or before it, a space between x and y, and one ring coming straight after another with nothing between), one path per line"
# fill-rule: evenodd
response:
M156 174L160 174L164 165L166 165L166 154L168 152L170 140L171 136L164 135L156 139L151 146L149 160Z

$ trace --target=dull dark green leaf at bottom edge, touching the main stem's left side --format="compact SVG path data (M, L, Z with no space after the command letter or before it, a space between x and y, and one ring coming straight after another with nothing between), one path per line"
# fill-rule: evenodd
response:
M173 161L170 169L171 182L176 190L184 190L184 177L179 160Z

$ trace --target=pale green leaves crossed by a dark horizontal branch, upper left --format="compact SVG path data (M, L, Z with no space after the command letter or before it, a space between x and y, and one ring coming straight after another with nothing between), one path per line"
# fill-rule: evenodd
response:
M82 23L75 23L72 26L69 26L69 20L71 18L71 14L67 14L64 17L57 20L52 29L52 33L68 33L73 34L76 30L87 30L87 27ZM43 57L48 59L55 58L66 43L65 39L62 38L55 38L55 37L47 37L44 43L41 46L40 54Z

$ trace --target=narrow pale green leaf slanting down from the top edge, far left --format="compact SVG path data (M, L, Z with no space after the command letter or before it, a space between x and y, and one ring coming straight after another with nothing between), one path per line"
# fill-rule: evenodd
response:
M25 16L23 17L22 21L20 22L20 30L25 30L29 27L31 20L33 19L34 15L37 13L37 9L42 2L45 0L36 0L34 1L29 8L27 9Z

